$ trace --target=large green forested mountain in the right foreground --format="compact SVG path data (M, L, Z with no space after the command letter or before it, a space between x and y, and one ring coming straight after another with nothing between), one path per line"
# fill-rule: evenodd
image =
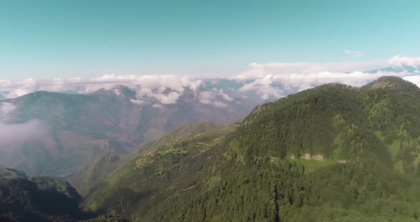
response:
M133 153L83 208L132 221L419 221L419 92L386 77L260 105L240 125Z

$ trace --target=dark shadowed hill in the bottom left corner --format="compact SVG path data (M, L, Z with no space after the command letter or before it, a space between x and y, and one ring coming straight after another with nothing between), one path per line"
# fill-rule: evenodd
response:
M78 194L52 178L32 178L0 166L0 221L77 221ZM72 190L73 193L68 193Z

